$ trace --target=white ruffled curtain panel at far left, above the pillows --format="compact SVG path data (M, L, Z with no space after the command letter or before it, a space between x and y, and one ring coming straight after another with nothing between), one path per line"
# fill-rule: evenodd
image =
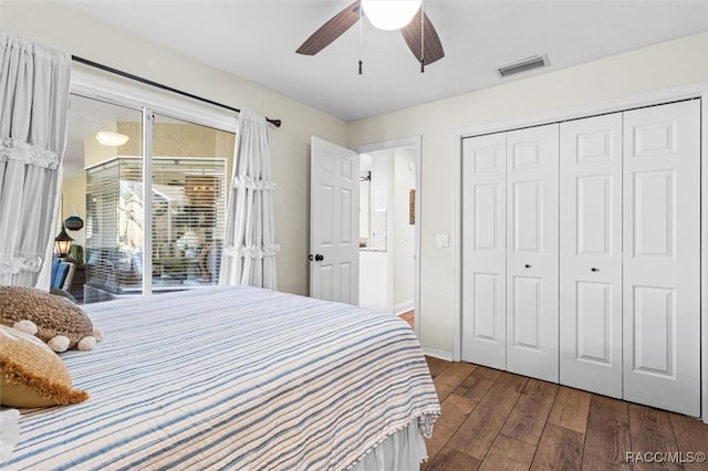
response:
M71 56L0 33L0 285L49 290Z

